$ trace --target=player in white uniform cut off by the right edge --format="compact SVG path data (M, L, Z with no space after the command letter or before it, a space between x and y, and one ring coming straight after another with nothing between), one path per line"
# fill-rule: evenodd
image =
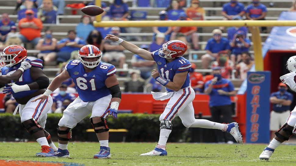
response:
M280 77L282 83L286 84L287 87L296 92L296 56L290 57L287 61L287 69L291 72ZM275 133L275 137L270 141L269 145L263 150L259 158L261 160L269 160L274 150L284 141L296 133L296 107L290 112L290 115L286 123Z

